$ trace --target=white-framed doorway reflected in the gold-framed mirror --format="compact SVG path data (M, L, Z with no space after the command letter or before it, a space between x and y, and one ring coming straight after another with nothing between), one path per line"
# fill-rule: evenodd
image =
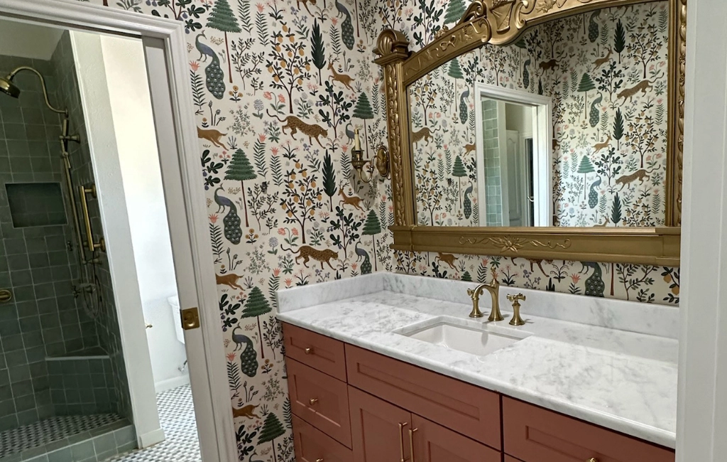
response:
M553 103L475 84L479 226L553 226Z

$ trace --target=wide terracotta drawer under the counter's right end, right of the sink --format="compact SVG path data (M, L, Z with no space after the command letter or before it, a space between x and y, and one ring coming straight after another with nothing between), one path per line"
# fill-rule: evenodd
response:
M674 453L515 399L502 398L505 453L524 462L674 462Z

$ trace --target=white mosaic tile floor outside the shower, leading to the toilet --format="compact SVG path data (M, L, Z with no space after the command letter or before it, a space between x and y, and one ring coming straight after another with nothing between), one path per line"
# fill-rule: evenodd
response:
M107 462L201 462L190 386L156 395L156 404L166 441Z

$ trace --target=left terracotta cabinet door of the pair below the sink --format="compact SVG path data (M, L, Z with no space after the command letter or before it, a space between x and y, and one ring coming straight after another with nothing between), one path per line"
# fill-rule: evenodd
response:
M404 434L411 428L409 411L351 386L348 387L348 402L355 462L409 460L409 442L404 440ZM400 429L400 423L403 429Z

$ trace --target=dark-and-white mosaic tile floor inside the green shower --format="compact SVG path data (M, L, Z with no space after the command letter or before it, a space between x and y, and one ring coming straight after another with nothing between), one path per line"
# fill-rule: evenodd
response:
M0 458L120 421L116 414L67 415L47 418L17 429L0 431Z

